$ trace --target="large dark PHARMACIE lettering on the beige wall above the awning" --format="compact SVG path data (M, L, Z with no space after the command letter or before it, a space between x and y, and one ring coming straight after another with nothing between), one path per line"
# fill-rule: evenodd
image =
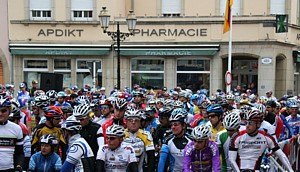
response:
M140 36L207 36L207 29L136 29L135 35Z

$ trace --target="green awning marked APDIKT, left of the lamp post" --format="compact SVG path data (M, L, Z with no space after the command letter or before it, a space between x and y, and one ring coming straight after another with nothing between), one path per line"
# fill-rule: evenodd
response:
M9 44L13 55L107 55L111 45L97 44Z

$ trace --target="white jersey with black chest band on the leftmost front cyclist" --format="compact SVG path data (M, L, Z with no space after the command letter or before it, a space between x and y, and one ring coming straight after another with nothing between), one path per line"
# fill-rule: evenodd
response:
M16 146L23 145L22 129L19 125L7 121L0 125L0 131L0 170L13 169Z

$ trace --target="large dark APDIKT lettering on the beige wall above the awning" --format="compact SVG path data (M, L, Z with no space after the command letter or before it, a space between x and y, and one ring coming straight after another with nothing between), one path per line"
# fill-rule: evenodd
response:
M81 37L83 29L40 29L37 36Z

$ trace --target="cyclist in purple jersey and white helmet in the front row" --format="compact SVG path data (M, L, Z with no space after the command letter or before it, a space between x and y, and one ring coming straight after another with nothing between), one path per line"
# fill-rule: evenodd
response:
M209 126L200 125L193 129L193 141L184 148L183 171L219 172L220 155L217 143L209 140Z

